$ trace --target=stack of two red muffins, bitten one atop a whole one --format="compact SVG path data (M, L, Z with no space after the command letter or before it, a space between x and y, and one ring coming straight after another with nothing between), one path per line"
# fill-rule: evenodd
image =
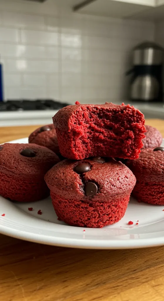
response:
M60 153L67 158L45 175L58 218L92 228L118 222L136 179L114 157L139 157L144 115L124 104L76 103L59 110L53 124Z

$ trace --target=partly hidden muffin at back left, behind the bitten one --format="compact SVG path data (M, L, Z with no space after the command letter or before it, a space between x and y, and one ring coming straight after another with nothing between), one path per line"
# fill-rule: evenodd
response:
M56 131L53 124L42 126L32 132L29 135L29 143L45 146L54 153L60 154Z

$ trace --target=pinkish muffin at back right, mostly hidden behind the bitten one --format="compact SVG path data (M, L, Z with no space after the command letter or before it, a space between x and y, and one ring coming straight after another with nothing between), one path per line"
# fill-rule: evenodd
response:
M160 146L162 143L161 133L152 126L145 125L147 132L145 133L145 138L142 140L144 146L143 148L153 148Z

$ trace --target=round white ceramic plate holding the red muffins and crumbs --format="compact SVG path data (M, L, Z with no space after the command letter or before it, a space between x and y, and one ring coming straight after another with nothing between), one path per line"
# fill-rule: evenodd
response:
M10 142L27 143L28 139ZM29 211L28 207L33 207L33 211ZM39 209L42 215L38 215ZM0 233L41 244L64 247L88 249L153 247L164 245L163 209L164 206L138 203L131 197L125 216L120 222L102 229L80 228L68 226L57 220L50 197L33 203L14 203L0 196ZM2 216L3 213L5 216ZM133 225L128 225L129 221L132 221Z

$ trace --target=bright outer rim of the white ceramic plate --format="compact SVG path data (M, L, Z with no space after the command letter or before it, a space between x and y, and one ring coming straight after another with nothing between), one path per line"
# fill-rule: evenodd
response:
M8 141L5 143L25 143L23 142L28 138L20 138L12 141ZM164 139L163 139L164 141ZM26 142L27 143L27 142ZM3 200L2 200L3 201ZM26 240L39 244L47 244L53 246L60 247L70 247L70 248L81 248L81 249L134 249L134 248L143 248L143 247L155 247L164 245L164 235L159 237L148 237L148 238L130 238L130 239L85 239L85 235L87 233L81 235L79 238L70 238L70 237L57 237L52 235L45 235L40 233L32 233L28 231L28 227L26 230L17 230L17 228L12 228L10 226L3 225L1 223L3 217L0 216L0 233L14 237L21 240ZM20 224L21 225L21 224ZM66 227L70 227L69 225ZM76 227L74 227L76 228ZM80 227L77 227L80 228ZM81 228L83 229L83 228ZM56 231L56 230L55 230ZM164 232L164 231L163 231ZM57 232L56 232L57 233ZM157 232L159 233L159 232ZM163 233L164 234L164 233ZM114 236L116 237L116 236Z

